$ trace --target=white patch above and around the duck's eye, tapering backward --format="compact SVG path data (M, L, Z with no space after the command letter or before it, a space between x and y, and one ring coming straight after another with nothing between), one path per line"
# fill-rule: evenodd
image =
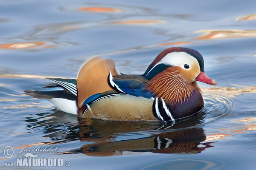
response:
M196 67L198 67L197 69L200 70L200 66L198 64L197 59L195 59L195 57L192 57L191 55L187 54L186 52L168 53L156 65L154 65L154 67L159 65L159 64L180 66L181 68L183 68L185 70L190 70L192 68L192 66L194 66L194 67L196 66ZM184 65L185 65L185 67L184 67ZM153 68L151 68L151 70L153 70Z

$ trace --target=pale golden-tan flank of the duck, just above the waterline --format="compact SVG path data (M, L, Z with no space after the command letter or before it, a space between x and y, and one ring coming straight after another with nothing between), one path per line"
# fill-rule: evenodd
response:
M93 102L82 117L117 121L156 120L152 114L153 102L152 99L119 94Z

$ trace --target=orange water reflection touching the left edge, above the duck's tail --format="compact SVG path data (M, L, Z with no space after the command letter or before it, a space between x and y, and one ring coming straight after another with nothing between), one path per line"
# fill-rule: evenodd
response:
M40 45L44 45L46 42L17 42L17 43L6 43L0 45L3 49L22 49L22 48L33 48Z

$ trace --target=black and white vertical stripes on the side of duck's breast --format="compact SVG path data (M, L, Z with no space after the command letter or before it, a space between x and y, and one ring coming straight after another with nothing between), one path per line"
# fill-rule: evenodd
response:
M166 103L163 99L158 97L154 99L153 102L153 114L154 116L161 121L170 121L175 122L175 119L172 116L172 113L167 108Z

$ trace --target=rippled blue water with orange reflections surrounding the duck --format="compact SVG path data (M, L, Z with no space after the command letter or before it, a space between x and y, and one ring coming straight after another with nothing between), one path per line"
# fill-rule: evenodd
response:
M256 19L247 15L255 5L0 0L1 169L16 163L22 147L57 148L31 153L62 158L70 162L62 168L72 169L253 169ZM176 124L81 119L23 94L41 90L47 77L76 78L82 63L97 55L113 59L122 73L141 74L172 46L200 51L207 75L218 82L198 83L204 112ZM3 155L7 145L14 147L10 159Z

